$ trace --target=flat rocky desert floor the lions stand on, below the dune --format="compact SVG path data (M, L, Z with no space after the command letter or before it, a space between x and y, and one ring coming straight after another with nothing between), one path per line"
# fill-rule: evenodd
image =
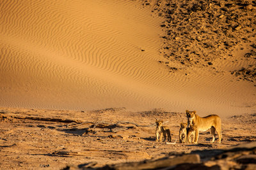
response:
M0 169L62 169L91 162L97 168L256 141L255 113L222 118L221 144L210 142L210 131L200 133L198 144L192 144L179 143L185 111L1 108L0 112ZM176 144L155 141L156 119L170 127Z

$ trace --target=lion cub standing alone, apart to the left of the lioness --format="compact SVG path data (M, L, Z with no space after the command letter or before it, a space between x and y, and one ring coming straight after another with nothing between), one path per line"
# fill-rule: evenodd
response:
M156 141L162 141L164 136L164 141L166 141L166 134L168 136L167 141L172 141L170 129L168 126L163 126L163 120L156 120Z

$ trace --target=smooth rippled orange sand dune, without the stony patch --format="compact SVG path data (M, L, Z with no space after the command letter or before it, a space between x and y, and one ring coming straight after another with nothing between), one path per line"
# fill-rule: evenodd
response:
M256 89L234 80L228 68L238 66L232 62L216 60L220 73L195 67L189 74L170 73L159 63L164 19L152 13L154 3L37 0L0 6L0 106L188 109L223 117L256 111Z

